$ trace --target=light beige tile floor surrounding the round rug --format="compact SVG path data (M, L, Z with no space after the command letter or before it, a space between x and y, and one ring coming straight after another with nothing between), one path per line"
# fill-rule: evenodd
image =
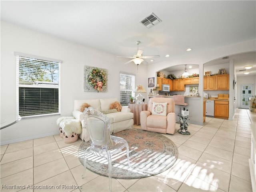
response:
M251 192L248 158L250 127L255 128L255 124L256 114L245 109L237 109L233 121L206 117L204 126L190 124L190 135L177 133L179 124L176 124L174 135L164 134L178 147L174 166L147 178L112 178L112 189ZM87 170L86 178L81 178L83 166L77 157L81 142L66 144L59 135L54 135L1 146L0 191L108 191L107 177Z

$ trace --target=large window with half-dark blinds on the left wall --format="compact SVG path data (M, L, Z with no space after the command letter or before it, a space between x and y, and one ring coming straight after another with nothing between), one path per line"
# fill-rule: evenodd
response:
M61 62L34 56L16 57L18 114L21 117L59 114Z

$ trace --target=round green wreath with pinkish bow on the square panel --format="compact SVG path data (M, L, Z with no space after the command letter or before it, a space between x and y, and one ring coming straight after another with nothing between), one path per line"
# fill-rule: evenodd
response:
M95 67L89 73L88 83L99 92L106 85L106 78L106 71Z

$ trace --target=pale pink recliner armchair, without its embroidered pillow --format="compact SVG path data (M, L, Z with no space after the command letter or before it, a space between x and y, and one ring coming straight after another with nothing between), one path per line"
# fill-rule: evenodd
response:
M166 115L152 114L153 102L167 103ZM163 134L174 134L175 132L175 105L171 98L150 98L148 111L140 112L140 126L143 130Z

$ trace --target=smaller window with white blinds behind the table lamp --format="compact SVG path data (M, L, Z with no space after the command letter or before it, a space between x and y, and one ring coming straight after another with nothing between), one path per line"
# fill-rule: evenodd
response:
M134 97L135 75L120 73L120 103L128 106L130 97Z

